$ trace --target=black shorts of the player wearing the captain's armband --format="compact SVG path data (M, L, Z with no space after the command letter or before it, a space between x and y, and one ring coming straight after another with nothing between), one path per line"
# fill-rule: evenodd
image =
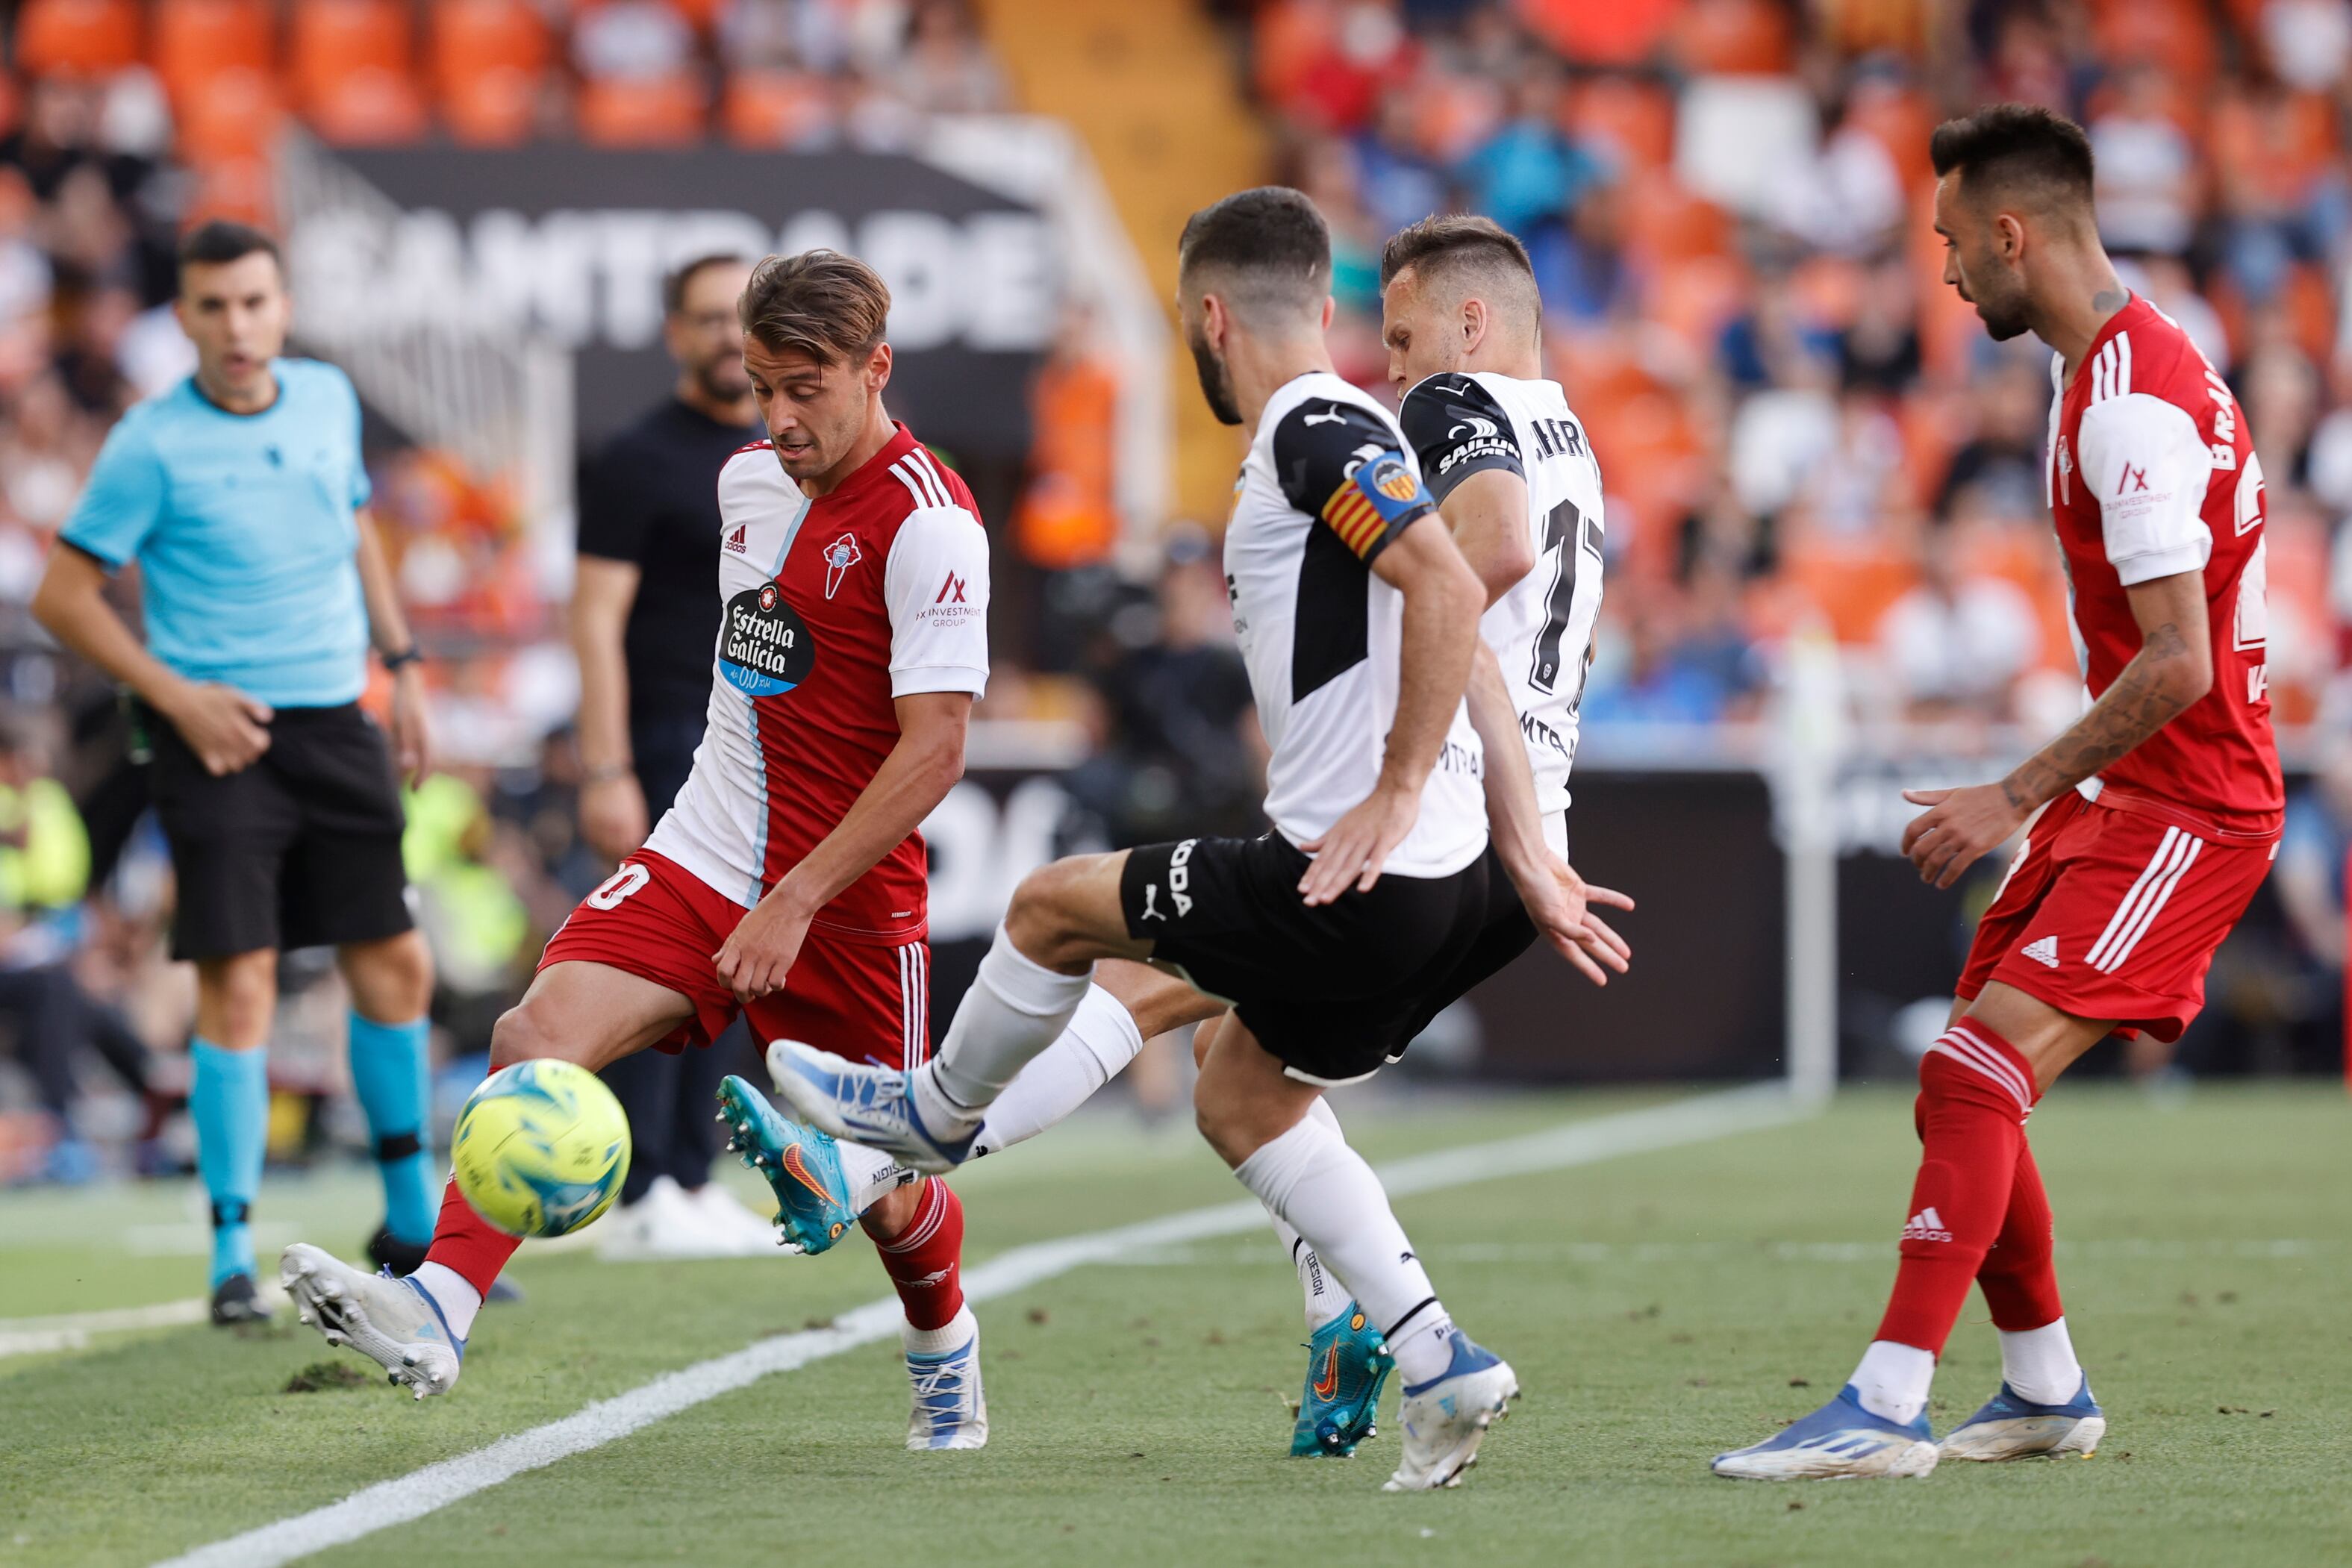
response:
M1381 877L1308 907L1310 856L1282 835L1181 839L1127 853L1127 933L1232 1004L1291 1077L1352 1084L1397 1060L1470 985L1534 940L1489 849L1451 877ZM1517 917L1524 940L1510 940Z

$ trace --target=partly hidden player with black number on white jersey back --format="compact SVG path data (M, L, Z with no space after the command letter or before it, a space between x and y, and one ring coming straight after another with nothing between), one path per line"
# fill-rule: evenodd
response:
M1472 703L1470 717L1489 757L1526 755L1541 849L1529 846L1519 863L1534 865L1548 853L1564 867L1576 698L1602 597L1599 468L1559 388L1541 378L1541 301L1517 240L1486 219L1430 219L1388 242L1381 277L1390 376L1399 390L1411 388L1402 411L1404 433L1430 475L1439 515L1463 559L1486 585L1489 609L1479 621L1486 646L1477 651L1472 672L1472 686L1484 686L1484 703ZM1348 423L1312 400L1301 402L1291 418L1298 428L1289 435L1277 430L1277 447L1305 442L1310 430ZM1298 475L1298 491L1287 496L1301 510L1322 503L1305 470ZM1515 783L1512 769L1491 769L1489 799L1508 783ZM1508 806L1494 813L1508 818ZM1524 905L1508 896L1510 889L1501 891L1505 896L1491 900L1470 957L1449 980L1446 990L1454 994L1501 971L1538 938ZM1609 889L1583 891L1595 903L1630 907L1628 898ZM1566 952L1599 985L1609 969L1625 969L1628 947L1599 917L1588 912L1585 924L1602 945L1588 950L1571 943ZM1134 964L1105 961L1096 978L1108 978L1120 999L1155 1020L1155 1027L1223 1013L1221 1004L1204 1004L1188 985L1155 983L1150 971ZM1454 994L1425 999L1399 1039L1416 1037L1428 1016ZM1207 1060L1214 1039L1216 1025L1200 1030L1200 1060ZM1089 992L1063 1037L1021 1067L988 1107L971 1157L995 1154L1054 1126L1141 1048L1143 1027L1129 1023L1129 1013L1101 990ZM833 1138L779 1117L741 1079L727 1081L722 1100L734 1145L746 1152L748 1164L769 1173L790 1215L786 1225L804 1251L823 1251L840 1215L856 1208L854 1194L884 1190L882 1182L898 1168L889 1154L854 1143L835 1145ZM1315 1100L1308 1114L1338 1131L1329 1103ZM818 1180L779 1180L788 1161ZM1345 1458L1374 1436L1392 1359L1381 1328L1322 1267L1315 1248L1282 1218L1275 1218L1275 1234L1305 1293L1308 1373L1291 1455Z

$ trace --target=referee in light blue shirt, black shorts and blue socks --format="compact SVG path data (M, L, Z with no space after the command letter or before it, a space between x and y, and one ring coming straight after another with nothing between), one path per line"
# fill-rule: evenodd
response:
M400 785L428 764L416 649L367 515L360 400L343 371L282 360L278 244L205 223L179 252L195 374L106 437L33 614L129 686L179 903L172 957L198 976L195 1161L212 1194L212 1319L266 1316L249 1218L268 1135L263 1046L278 952L334 945L350 985L350 1079L383 1173L369 1251L409 1272L437 1206L426 1150L433 959L409 922ZM108 607L139 564L146 642ZM358 708L374 639L393 733Z

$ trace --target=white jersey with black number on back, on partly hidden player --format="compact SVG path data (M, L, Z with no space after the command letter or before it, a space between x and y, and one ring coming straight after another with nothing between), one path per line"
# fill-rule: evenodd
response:
M1494 371L1428 376L1404 395L1404 435L1430 494L1486 468L1526 480L1536 569L1486 607L1479 632L1503 663L1536 773L1536 804L1566 811L1576 708L1602 614L1602 468L1557 381Z

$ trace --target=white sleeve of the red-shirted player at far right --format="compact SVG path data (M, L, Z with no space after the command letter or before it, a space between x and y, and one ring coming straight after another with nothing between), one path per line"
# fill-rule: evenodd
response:
M2082 416L2077 456L2124 588L2204 571L2213 555L2213 531L2201 517L2213 451L2187 409L2150 393L2093 402Z

